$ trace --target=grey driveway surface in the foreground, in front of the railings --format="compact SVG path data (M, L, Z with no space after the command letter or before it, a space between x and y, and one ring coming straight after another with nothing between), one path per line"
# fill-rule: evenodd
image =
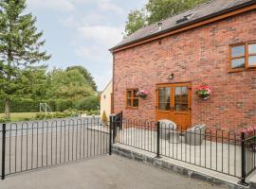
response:
M119 156L9 176L1 189L222 189Z

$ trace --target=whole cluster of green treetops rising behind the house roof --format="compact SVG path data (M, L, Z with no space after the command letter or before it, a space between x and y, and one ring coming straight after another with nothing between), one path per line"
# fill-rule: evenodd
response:
M128 15L125 35L130 35L142 26L152 25L208 1L210 0L149 0L145 9L133 10Z

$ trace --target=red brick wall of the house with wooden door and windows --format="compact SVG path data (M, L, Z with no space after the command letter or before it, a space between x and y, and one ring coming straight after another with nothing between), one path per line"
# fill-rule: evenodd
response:
M256 70L229 73L229 44L256 41L256 10L114 54L114 111L155 120L155 85L192 82L192 125L238 129L256 125ZM213 94L198 100L194 87L207 83ZM125 109L126 88L150 91L138 110Z

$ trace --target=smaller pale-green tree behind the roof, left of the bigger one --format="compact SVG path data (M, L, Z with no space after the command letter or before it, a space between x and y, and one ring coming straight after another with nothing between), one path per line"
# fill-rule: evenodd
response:
M126 22L125 35L131 35L143 26L146 26L146 16L143 10L132 10L128 15L128 21Z

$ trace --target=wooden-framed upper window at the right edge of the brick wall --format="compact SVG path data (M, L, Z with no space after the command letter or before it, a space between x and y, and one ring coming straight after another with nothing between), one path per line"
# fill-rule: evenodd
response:
M256 68L256 43L239 43L230 46L230 71Z

